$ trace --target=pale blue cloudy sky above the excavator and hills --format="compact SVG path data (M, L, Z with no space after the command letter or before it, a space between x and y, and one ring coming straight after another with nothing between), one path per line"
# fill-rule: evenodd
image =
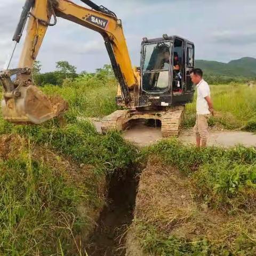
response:
M256 58L255 0L93 0L122 19L124 34L134 66L140 63L143 37L179 35L195 43L196 59L228 62ZM79 0L77 4L86 6ZM5 68L14 47L12 36L25 0L0 2L0 69ZM23 36L24 37L24 36ZM22 41L11 68L17 67ZM47 30L37 60L42 71L67 60L77 71L94 71L110 63L100 34L58 18Z

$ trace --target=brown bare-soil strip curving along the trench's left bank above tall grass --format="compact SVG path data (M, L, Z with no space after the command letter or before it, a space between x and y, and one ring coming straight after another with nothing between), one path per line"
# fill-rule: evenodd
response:
M0 162L13 161L13 159L19 159L27 164L36 162L45 168L50 168L54 173L54 178L63 180L65 186L69 187L70 185L70 188L75 186L77 189L83 190L86 197L77 206L76 217L73 216L73 218L83 220L86 225L79 230L74 239L71 238L71 243L76 241L73 248L75 252L77 246L85 246L104 206L107 191L106 177L96 175L94 166L75 163L67 156L58 155L46 146L30 143L29 140L17 134L3 135L0 137ZM66 224L63 223L63 225Z

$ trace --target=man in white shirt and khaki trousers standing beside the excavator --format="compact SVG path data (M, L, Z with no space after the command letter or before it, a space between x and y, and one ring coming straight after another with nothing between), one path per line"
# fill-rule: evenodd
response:
M191 80L197 87L196 100L196 124L194 132L196 134L196 146L205 147L209 137L208 119L213 115L213 104L210 96L210 87L203 79L203 71L195 68L190 73Z

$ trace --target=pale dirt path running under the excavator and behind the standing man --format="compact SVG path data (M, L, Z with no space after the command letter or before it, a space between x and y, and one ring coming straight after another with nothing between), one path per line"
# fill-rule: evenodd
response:
M162 139L161 129L147 127L143 124L134 126L124 132L124 138L139 146L147 146ZM193 131L181 131L179 140L183 143L195 143ZM237 144L244 146L256 146L256 134L241 131L210 131L209 145L232 147Z

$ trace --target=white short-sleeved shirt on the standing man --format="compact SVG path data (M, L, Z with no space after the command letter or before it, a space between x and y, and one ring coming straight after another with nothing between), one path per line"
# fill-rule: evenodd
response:
M210 87L209 85L202 79L197 87L197 100L196 100L196 114L197 115L208 115L210 114L209 106L205 97L210 96Z

